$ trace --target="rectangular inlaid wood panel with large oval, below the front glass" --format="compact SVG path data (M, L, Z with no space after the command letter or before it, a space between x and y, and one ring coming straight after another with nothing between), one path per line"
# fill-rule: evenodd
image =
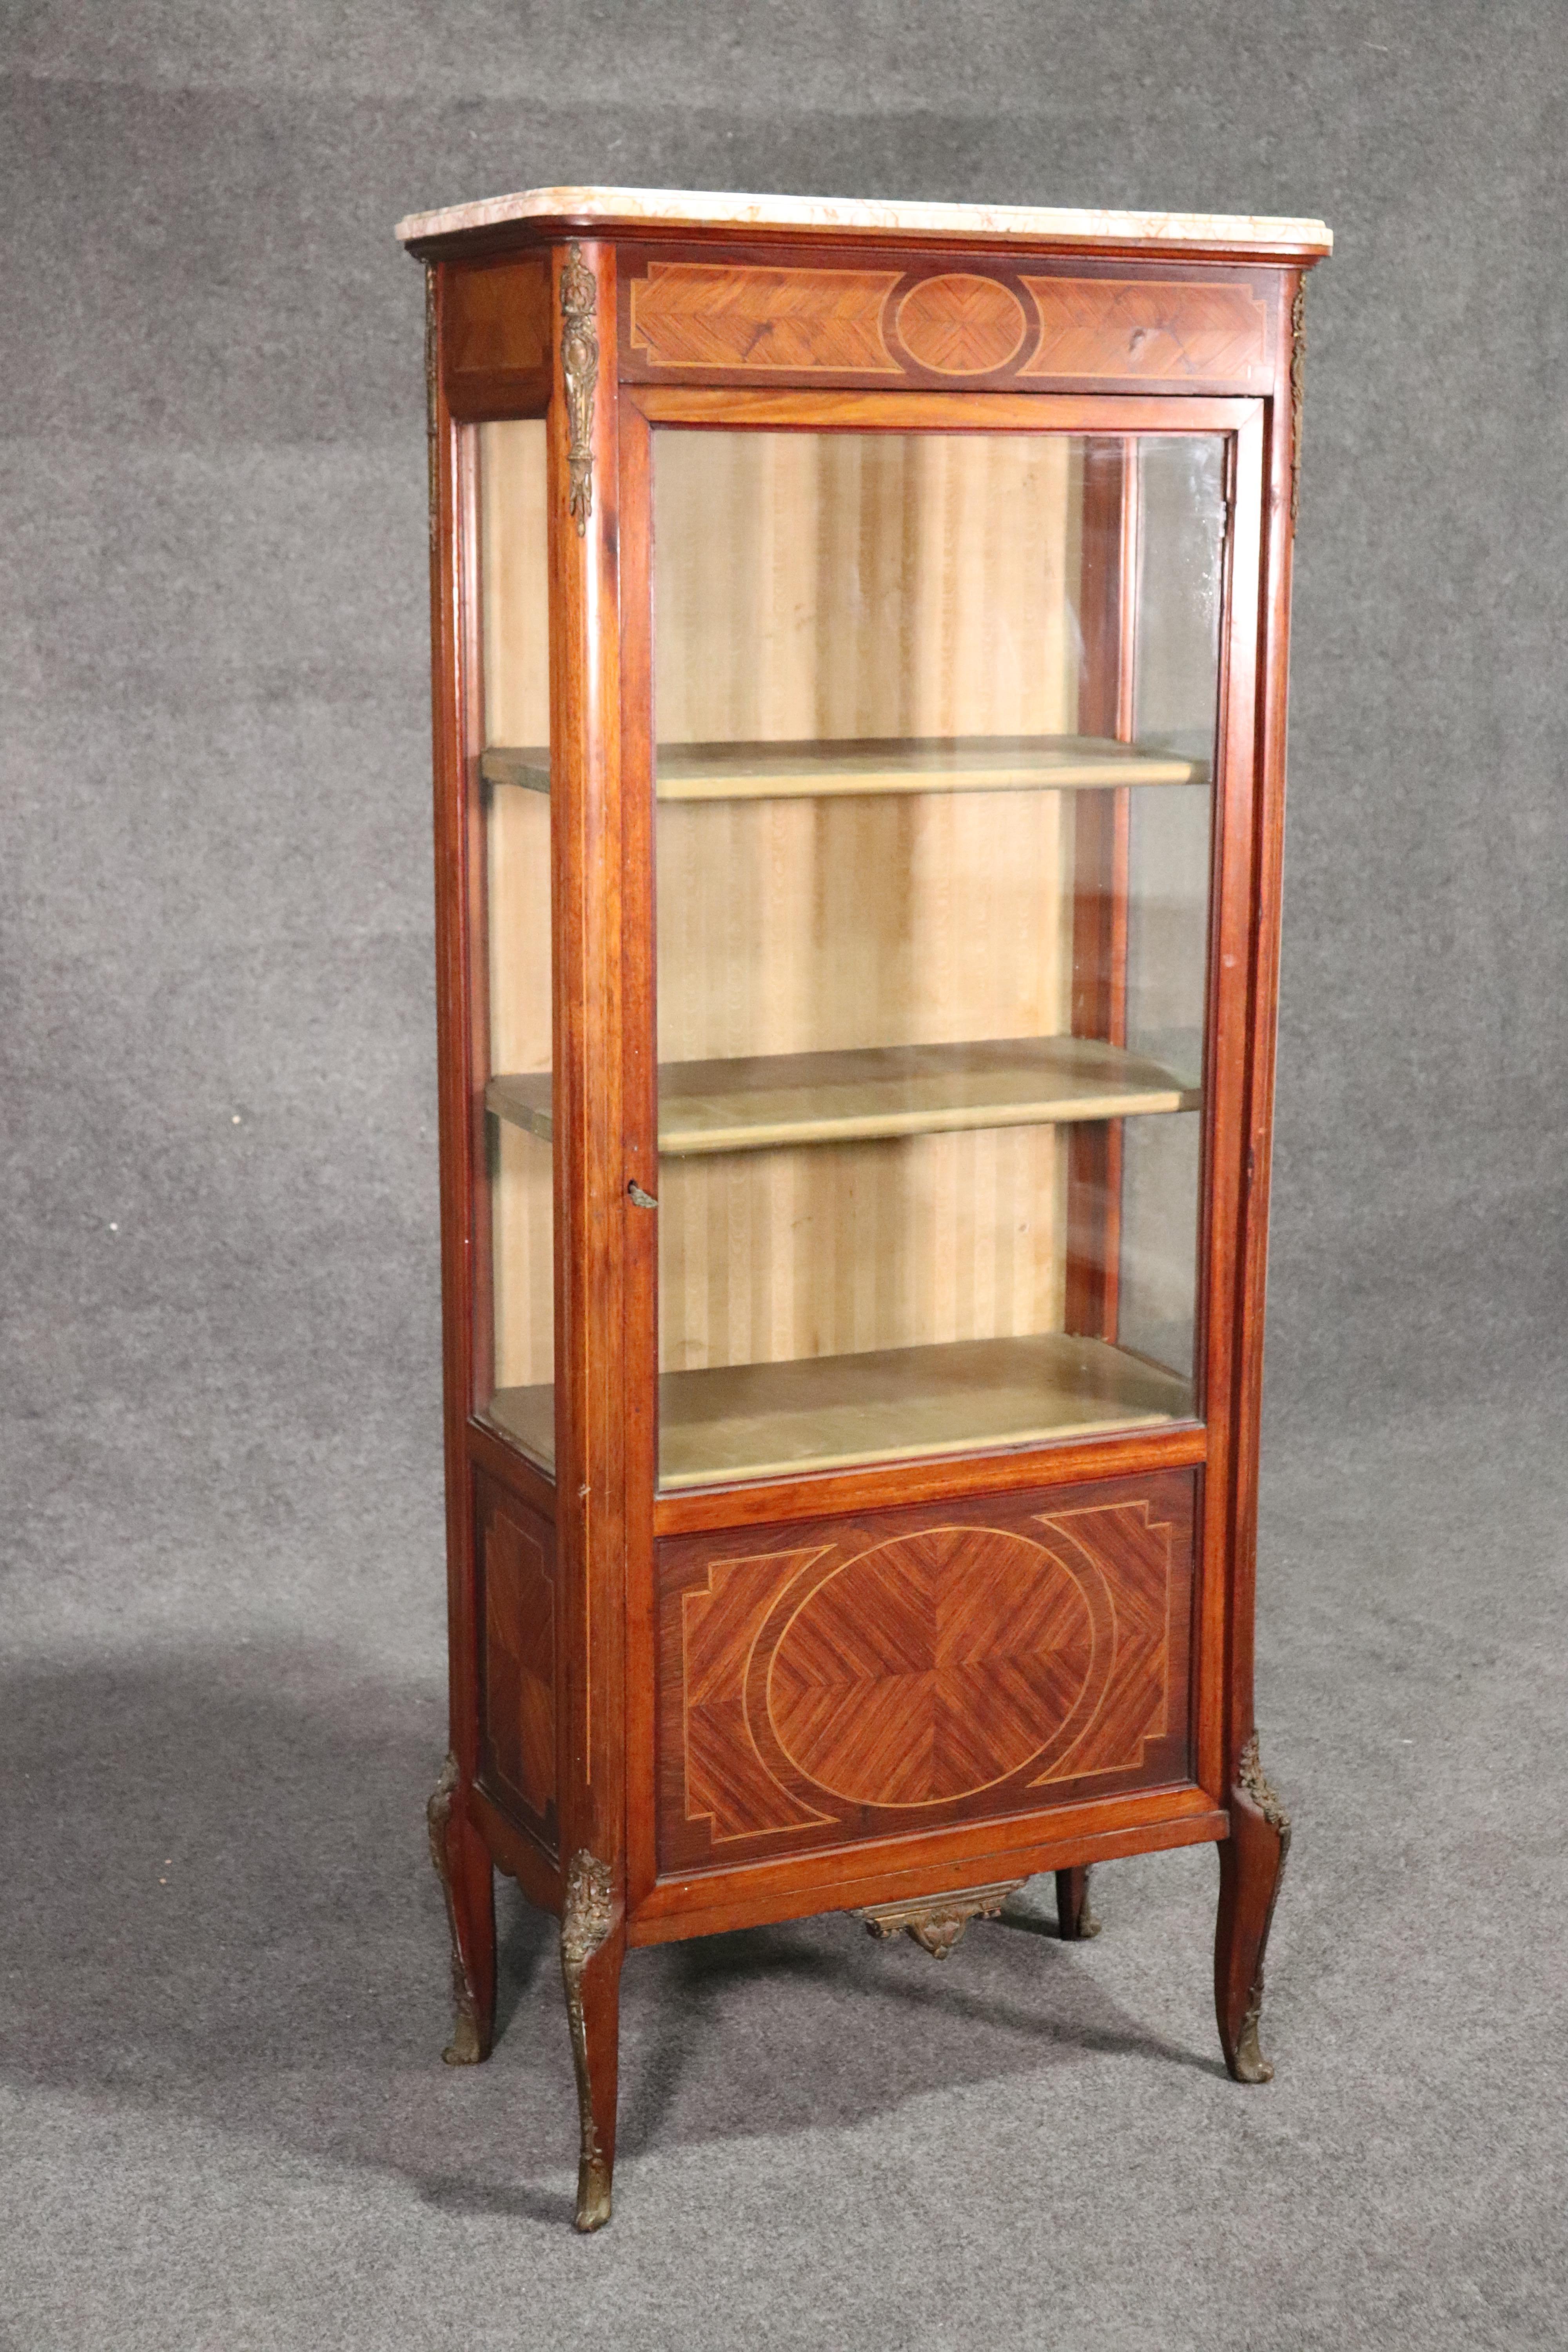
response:
M1194 1475L661 1545L661 1867L1187 1771Z

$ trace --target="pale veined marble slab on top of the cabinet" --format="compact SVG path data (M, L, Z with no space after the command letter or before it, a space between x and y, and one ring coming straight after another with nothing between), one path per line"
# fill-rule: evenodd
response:
M1321 221L1229 212L1060 212L1032 205L896 205L853 195L719 195L705 188L524 188L444 212L411 212L404 245L508 221L590 228L844 228L877 235L1027 238L1060 245L1222 245L1302 254L1333 252Z

